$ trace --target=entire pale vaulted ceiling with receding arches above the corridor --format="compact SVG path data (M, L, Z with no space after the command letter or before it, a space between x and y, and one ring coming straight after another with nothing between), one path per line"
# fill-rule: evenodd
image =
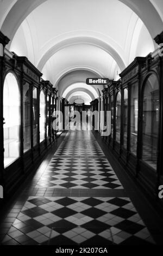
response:
M155 50L163 27L162 0L0 0L0 7L8 49L27 56L59 96L80 92L85 100L102 90L84 86L87 77L119 79L136 56Z

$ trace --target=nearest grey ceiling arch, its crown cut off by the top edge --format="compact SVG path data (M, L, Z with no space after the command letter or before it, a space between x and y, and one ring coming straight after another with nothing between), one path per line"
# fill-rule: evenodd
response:
M48 0L17 0L16 3L8 10L8 14L3 16L2 32L10 40L14 38L18 27L22 21L39 5ZM162 20L154 5L149 0L118 0L133 10L145 23L152 38L162 31ZM13 19L14 17L14 19Z

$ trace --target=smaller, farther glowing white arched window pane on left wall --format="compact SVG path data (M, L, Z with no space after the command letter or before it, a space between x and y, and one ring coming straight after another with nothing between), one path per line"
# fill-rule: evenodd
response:
M45 140L45 111L46 111L46 105L45 105L45 94L43 91L40 93L40 142L42 140Z

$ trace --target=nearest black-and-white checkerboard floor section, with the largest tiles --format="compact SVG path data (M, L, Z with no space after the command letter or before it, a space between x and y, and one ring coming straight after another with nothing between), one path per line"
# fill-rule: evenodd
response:
M29 197L3 245L149 245L129 198Z

